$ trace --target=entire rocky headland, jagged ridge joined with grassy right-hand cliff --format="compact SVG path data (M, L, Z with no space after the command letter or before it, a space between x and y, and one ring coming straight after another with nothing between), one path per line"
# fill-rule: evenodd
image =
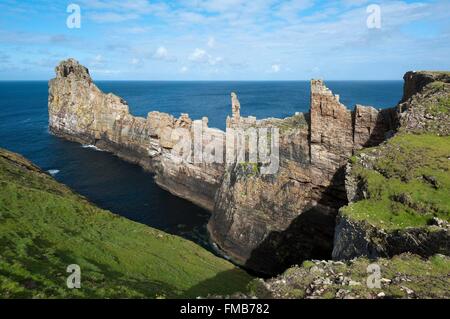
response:
M234 262L273 275L304 260L332 255L335 259L390 257L408 251L448 255L449 201L439 199L449 190L448 82L444 72L407 73L399 105L385 110L356 105L351 111L323 81L313 80L310 112L285 119L241 117L238 97L232 94L227 128L278 129L279 169L273 174L263 174L264 163L259 160L220 163L177 156L174 148L183 134L194 136L200 131L202 154L212 154L211 149L224 147L227 133L209 128L207 118L192 120L187 114L174 118L150 112L147 118L135 117L121 98L101 92L88 70L73 59L63 61L50 81L49 126L55 135L95 145L153 172L158 185L211 212L211 237ZM408 144L409 136L424 140ZM432 140L426 140L427 136ZM436 141L444 150L426 147ZM404 143L406 148L424 145L420 158L429 159L424 164L429 167L410 169L412 157L403 152ZM377 164L397 154L392 148L400 149L401 157L391 160L403 168ZM436 172L425 172L424 167ZM386 181L372 183L363 170L378 170ZM426 189L434 192L431 198L437 199L422 207L417 204L423 199L422 190L412 195L383 193L389 192L383 183L389 184L392 178L400 183L409 178L414 187L423 183L432 188ZM415 210L420 221L413 218L414 222L398 226L394 218L386 222L389 227L384 227L384 221L368 222L364 216L369 210L358 203L379 199L392 208L380 215L389 219L391 212L399 212L396 205L403 205L409 215L410 209ZM376 214L371 216L382 221ZM386 234L382 240L378 232Z

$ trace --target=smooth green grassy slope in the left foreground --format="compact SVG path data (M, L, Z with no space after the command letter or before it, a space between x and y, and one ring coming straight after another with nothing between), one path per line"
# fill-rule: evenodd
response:
M81 289L66 268L81 267ZM0 149L0 298L196 297L252 278L182 238L99 209Z

